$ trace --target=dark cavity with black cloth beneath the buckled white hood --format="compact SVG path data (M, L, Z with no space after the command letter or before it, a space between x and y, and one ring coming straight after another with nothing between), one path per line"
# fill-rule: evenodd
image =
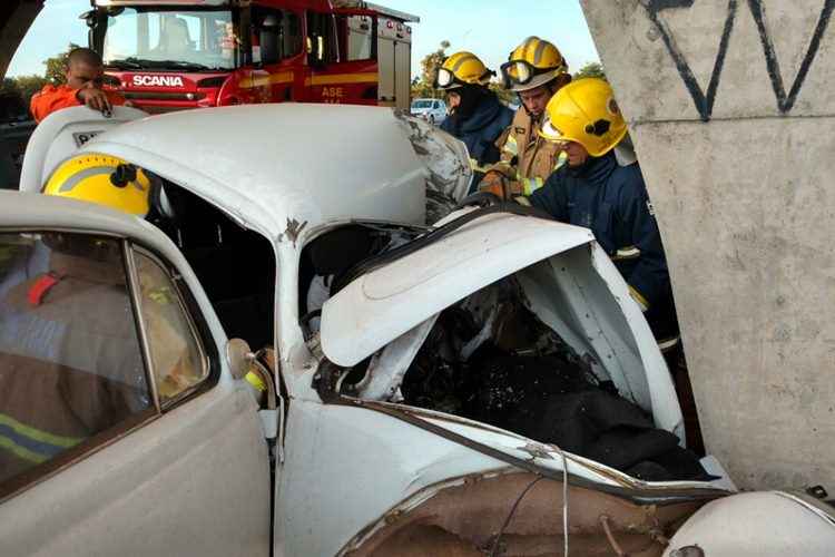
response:
M675 434L597 379L509 281L488 289L502 292L493 333L465 356L462 348L482 331L478 307L464 301L444 310L405 374L404 403L553 443L648 481L710 479Z

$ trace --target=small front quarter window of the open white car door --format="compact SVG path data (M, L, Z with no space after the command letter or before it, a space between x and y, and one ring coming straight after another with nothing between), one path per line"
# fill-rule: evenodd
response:
M154 379L165 408L208 377L208 362L168 272L144 252L136 251L135 261Z

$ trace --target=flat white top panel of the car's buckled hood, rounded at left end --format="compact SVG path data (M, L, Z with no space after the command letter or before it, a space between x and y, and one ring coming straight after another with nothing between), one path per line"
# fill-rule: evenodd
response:
M491 215L466 224L328 300L322 311L323 351L334 363L354 365L468 294L592 241L588 229L522 216Z

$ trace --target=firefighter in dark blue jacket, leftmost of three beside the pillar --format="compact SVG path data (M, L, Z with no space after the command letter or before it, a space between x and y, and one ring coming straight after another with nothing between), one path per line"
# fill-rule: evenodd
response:
M495 141L513 119L513 111L488 88L494 75L475 55L461 51L446 58L435 77L435 88L446 92L450 107L441 129L461 139L470 152L471 190L499 160Z

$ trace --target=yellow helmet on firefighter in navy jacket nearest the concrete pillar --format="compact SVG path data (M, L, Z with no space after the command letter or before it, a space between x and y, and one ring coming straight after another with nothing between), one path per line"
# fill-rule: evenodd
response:
M539 135L550 141L579 143L589 155L609 153L627 133L609 84L598 78L572 81L551 97Z

